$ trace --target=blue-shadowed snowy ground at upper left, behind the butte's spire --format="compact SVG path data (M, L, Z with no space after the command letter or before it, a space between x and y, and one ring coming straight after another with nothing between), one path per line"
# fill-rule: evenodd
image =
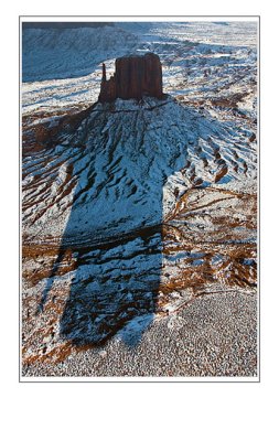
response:
M22 35L22 79L81 77L116 53L132 51L138 39L116 26L26 29Z

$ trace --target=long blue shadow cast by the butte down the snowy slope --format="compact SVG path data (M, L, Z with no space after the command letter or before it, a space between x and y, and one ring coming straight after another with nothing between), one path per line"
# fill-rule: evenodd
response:
M71 249L76 269L60 322L63 338L98 345L119 332L133 346L151 323L162 272L163 194L168 178L185 166L190 144L198 143L198 119L168 97L117 101L94 106L75 131L71 147L85 148L73 164L73 205L41 304ZM203 121L207 138L212 122ZM217 122L212 129L226 136Z

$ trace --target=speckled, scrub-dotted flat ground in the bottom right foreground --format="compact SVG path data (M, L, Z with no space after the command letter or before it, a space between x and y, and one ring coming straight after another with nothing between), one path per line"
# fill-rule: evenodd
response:
M130 333L130 327L121 331L137 340ZM176 314L157 318L139 344L124 340L117 335L56 365L31 365L23 376L255 377L257 299L247 291L207 294Z

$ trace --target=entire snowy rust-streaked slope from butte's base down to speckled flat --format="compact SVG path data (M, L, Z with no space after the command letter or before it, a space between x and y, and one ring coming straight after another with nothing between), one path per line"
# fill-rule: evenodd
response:
M170 97L79 118L24 158L26 364L256 286L251 131Z

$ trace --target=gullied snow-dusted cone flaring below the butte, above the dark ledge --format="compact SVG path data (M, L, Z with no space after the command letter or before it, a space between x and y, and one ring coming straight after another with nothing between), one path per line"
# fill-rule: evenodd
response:
M95 238L161 224L180 189L254 182L251 135L170 97L97 104L74 133L42 153L39 169L32 157L23 166L24 204L33 201L23 219L33 235L56 236L62 227L65 236ZM31 178L36 170L41 184Z

